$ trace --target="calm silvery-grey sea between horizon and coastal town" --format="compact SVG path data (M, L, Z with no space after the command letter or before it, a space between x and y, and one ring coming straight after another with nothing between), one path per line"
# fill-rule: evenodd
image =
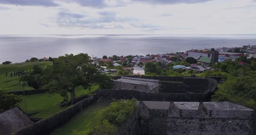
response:
M248 44L256 45L256 35L0 35L0 63L70 53L97 57L166 54Z

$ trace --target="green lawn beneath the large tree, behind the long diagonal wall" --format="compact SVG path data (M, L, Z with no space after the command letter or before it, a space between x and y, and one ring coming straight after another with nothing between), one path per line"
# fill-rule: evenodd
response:
M90 92L94 92L98 89L97 84L92 84L92 88ZM84 90L82 86L78 86L75 88L75 94L77 96L82 96L90 93L88 89ZM70 96L69 96L70 98ZM26 96L26 106L27 106L27 113L34 113L38 112L30 117L34 118L47 118L52 116L63 109L66 109L68 106L61 107L59 103L62 102L63 97L60 96L58 93L49 94L49 93L41 93L41 94L34 94L34 95L27 95ZM19 104L21 109L25 111L25 101L23 100L22 103Z

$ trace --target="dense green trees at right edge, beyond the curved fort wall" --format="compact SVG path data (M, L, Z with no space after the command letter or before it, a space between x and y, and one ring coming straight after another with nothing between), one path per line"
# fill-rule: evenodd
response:
M237 61L226 61L213 65L214 71L206 71L201 76L221 76L226 81L212 96L213 101L231 101L256 109L255 59L248 59L246 65Z

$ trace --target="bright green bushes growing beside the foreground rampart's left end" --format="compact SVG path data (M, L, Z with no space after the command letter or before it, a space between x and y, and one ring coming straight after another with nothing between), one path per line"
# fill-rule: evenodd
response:
M136 99L116 100L102 110L100 115L103 120L91 129L82 132L76 130L72 135L115 135L119 125L130 118L135 110Z

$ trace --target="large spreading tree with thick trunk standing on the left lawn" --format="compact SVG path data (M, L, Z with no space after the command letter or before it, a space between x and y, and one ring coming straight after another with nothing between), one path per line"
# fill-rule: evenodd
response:
M91 64L87 54L65 55L55 59L52 66L43 71L43 80L50 92L60 93L67 100L71 94L71 103L75 103L75 87L89 87L97 69Z

